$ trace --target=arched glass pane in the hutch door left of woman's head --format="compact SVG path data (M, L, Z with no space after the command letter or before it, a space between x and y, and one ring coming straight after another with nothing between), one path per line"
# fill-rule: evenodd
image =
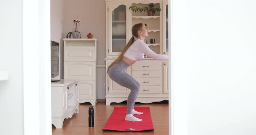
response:
M112 11L112 52L121 52L126 45L125 5Z

